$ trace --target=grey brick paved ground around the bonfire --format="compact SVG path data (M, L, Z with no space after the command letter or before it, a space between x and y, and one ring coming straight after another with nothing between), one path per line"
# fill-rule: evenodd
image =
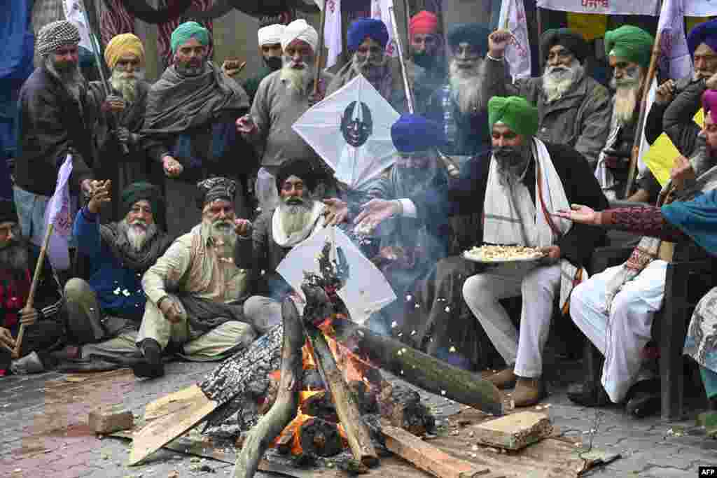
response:
M232 465L159 451L140 467L127 467L129 443L97 439L87 429L87 413L100 403L123 403L137 417L146 403L165 393L199 381L214 367L209 363L171 363L166 377L137 381L130 371L116 371L103 381L67 381L60 373L0 378L0 477L161 477L176 470L180 477L229 476ZM693 421L667 424L660 419L637 421L619 408L602 411L596 426L594 410L573 406L565 396L566 384L579 376L579 365L552 367L561 375L551 381L551 419L566 434L594 446L619 451L622 459L592 472L597 477L696 477L700 465L717 464L717 441L705 439ZM71 376L75 380L75 376ZM445 398L425 394L438 416L460 407ZM690 408L690 419L699 411ZM671 432L670 432L671 430ZM206 464L214 472L195 471ZM267 476L267 475L264 475Z

